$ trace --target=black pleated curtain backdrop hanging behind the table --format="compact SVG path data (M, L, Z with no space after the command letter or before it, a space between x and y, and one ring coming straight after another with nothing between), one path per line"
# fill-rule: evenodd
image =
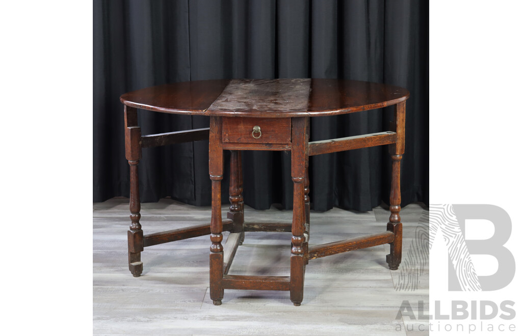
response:
M402 205L428 203L428 2L122 1L93 4L93 201L129 195L121 94L222 78L343 78L399 85L406 103ZM311 141L388 130L393 108L311 118ZM138 111L142 134L208 127L208 117ZM229 153L225 153L228 172ZM387 146L310 158L312 208L388 203ZM244 200L292 207L290 155L243 152ZM223 200L228 200L228 176ZM210 205L208 141L145 148L142 202Z

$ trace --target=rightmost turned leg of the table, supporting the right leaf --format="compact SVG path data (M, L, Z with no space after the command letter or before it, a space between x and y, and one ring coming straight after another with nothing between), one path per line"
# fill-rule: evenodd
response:
M402 223L400 221L400 160L405 146L405 113L406 102L395 105L394 128L397 133L395 144L390 145L392 156L392 190L390 191L390 218L387 230L394 233L394 241L390 243L390 254L386 256L389 269L399 268L402 258Z

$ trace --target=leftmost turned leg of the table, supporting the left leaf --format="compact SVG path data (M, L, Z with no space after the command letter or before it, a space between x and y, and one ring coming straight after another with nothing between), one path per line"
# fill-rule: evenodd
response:
M129 270L134 277L139 277L143 272L141 262L141 251L143 251L143 231L139 219L141 217L139 203L138 185L138 163L141 159L141 130L138 127L137 110L134 107L125 106L125 158L131 167L131 200L129 209L131 210L131 226L127 232L128 241L128 264Z

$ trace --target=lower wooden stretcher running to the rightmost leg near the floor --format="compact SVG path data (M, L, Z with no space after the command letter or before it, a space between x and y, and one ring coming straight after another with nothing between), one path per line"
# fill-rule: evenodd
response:
M360 248L392 243L394 241L394 237L395 236L393 232L386 231L383 233L365 235L364 237L316 245L310 247L309 260L322 258L342 252L359 250Z

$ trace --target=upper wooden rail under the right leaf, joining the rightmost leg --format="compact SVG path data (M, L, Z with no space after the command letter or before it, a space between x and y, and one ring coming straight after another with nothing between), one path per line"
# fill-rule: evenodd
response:
M348 136L347 138L312 141L309 143L308 155L312 156L318 154L357 150L358 148L388 145L395 143L396 139L397 134L395 132L387 131Z

